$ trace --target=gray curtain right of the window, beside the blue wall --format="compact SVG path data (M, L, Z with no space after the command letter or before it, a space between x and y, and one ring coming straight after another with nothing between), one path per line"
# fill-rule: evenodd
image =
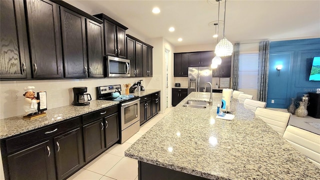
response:
M269 43L268 40L259 42L258 89L256 98L265 102L268 89Z

